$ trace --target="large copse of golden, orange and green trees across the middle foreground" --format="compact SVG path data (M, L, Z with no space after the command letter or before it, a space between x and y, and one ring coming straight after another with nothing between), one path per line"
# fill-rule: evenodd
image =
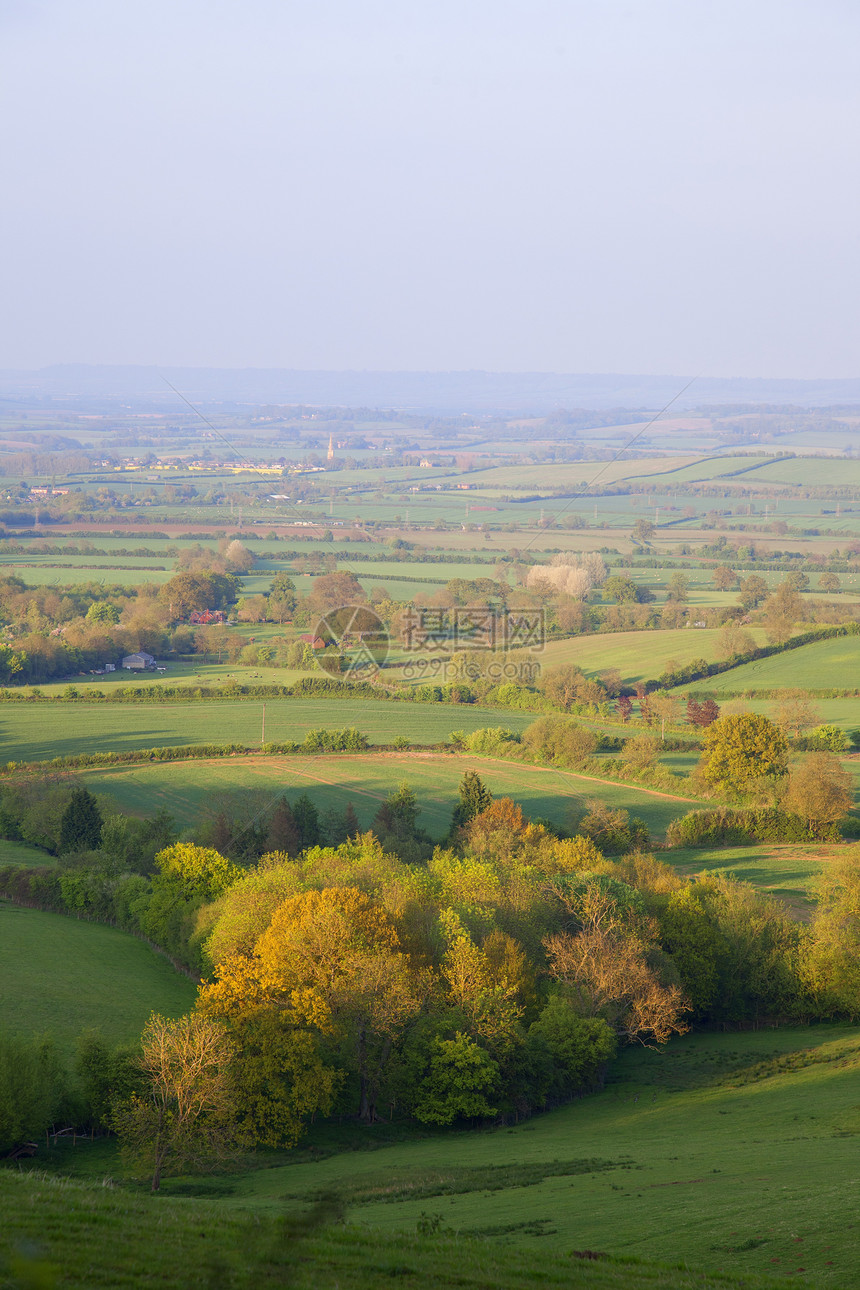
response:
M92 854L39 882L0 871L18 898L89 882L92 913L125 920L204 978L196 1010L153 1018L134 1059L90 1038L72 1076L36 1047L6 1059L0 1042L0 1142L68 1107L112 1125L157 1187L236 1146L295 1143L313 1116L526 1115L600 1085L619 1046L663 1044L692 1019L860 1015L859 849L803 925L747 884L681 878L623 811L592 804L558 836L493 800L473 770L445 846L424 849L407 786L378 826L392 846L357 828L320 845L313 802L284 799L268 827L290 850L237 864L170 842L147 875L124 867L125 833L108 818L110 908L92 899Z

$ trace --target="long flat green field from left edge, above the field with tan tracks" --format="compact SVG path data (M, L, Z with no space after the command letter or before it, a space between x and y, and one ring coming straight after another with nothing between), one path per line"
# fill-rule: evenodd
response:
M356 726L371 743L397 735L411 743L447 743L453 730L508 726L523 730L534 713L474 704L396 703L384 699L266 699L266 739L300 743L311 729ZM254 747L263 733L263 700L199 699L188 703L6 703L0 706L5 761L195 743Z

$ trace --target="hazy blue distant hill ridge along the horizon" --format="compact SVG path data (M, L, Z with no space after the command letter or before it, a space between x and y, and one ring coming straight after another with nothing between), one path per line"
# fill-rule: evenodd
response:
M61 365L0 372L0 397L24 404L174 408L164 378L193 402L397 408L428 414L542 414L553 408L663 408L689 375L552 372L293 372L280 368ZM699 377L678 410L726 404L825 408L860 404L860 378L771 381Z

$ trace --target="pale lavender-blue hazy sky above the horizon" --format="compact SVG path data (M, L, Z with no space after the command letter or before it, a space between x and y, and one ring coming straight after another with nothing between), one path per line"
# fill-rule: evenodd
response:
M0 368L860 374L857 0L0 0Z

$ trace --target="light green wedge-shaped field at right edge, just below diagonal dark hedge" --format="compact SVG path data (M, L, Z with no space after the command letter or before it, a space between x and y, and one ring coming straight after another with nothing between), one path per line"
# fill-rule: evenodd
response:
M860 636L838 636L836 640L801 645L698 682L698 688L707 688L714 694L793 688L847 690L855 686L860 689Z

